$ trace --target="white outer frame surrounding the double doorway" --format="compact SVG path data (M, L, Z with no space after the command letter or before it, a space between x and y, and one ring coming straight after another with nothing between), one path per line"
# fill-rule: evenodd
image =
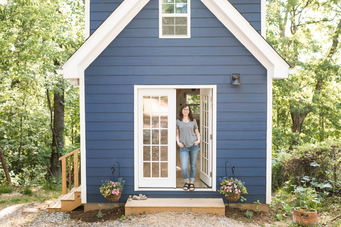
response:
M139 188L138 187L138 89L212 89L212 187L211 188L196 188L196 191L216 191L216 176L217 176L217 85L135 85L134 86L134 190L135 191L183 191L182 188ZM175 107L174 107L175 108ZM174 110L175 111L175 110ZM174 128L176 122L174 121ZM175 143L175 140L174 140ZM175 151L174 151L175 153ZM174 166L175 168L175 166ZM176 179L175 179L176 185Z

